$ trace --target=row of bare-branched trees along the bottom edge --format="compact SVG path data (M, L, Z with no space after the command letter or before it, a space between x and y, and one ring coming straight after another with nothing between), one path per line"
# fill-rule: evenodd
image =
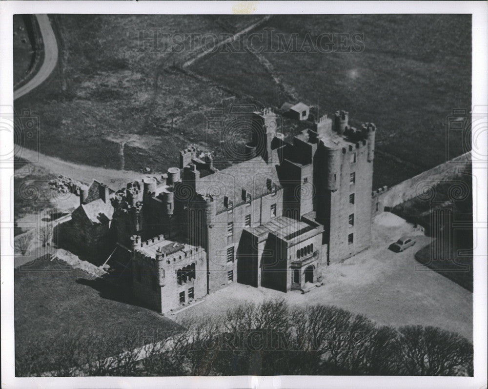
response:
M75 337L30 345L38 352L16 355L17 375L70 375L75 366L83 366L82 372L77 370L81 375L122 376L473 375L473 346L457 333L380 326L333 306L290 307L284 300L245 303L222 317L181 325L180 331L154 339L163 346L148 348L142 360L130 351L140 340L135 332L123 342ZM126 352L107 364L107 350L122 343ZM56 348L49 360L43 347Z

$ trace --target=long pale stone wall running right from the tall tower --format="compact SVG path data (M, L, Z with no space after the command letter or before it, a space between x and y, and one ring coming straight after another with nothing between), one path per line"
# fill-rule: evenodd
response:
M470 171L470 169L471 152L468 151L391 188L386 186L379 188L372 193L371 214L375 216L395 205L405 203L419 195L425 195L435 185L448 181L461 172Z

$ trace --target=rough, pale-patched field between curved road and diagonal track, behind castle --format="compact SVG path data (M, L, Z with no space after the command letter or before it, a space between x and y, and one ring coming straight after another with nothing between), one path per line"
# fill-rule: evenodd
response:
M164 72L175 55L146 46L140 50L140 32L147 38L151 28L160 28L161 34L224 32L214 27L210 17L50 18L60 50L58 66L36 93L14 104L16 112L29 108L40 117L40 146L27 141L30 148L81 164L165 171L177 161L178 150L200 135L195 135L195 128L183 128L173 137L170 117L177 122L189 112L229 97L216 87ZM154 137L150 142L137 139L142 134ZM122 143L126 143L126 161L120 155Z

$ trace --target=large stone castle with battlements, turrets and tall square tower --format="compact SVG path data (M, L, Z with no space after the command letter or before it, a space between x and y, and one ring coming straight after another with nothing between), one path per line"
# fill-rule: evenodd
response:
M319 286L327 265L369 246L375 125L340 111L287 143L270 109L250 122L239 164L218 170L192 146L161 176L81 186L68 240L125 256L134 295L162 313L232 282Z

